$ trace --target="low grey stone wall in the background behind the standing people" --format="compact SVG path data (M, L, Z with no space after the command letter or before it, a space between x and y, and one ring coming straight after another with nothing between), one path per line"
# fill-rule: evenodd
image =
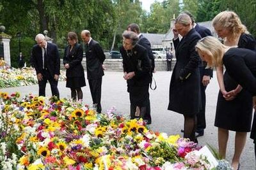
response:
M176 59L172 60L172 68L174 67ZM86 70L86 59L82 61L83 67ZM122 59L106 59L104 65L108 71L123 71ZM155 59L156 71L167 71L166 59ZM63 67L63 61L61 59L61 69Z

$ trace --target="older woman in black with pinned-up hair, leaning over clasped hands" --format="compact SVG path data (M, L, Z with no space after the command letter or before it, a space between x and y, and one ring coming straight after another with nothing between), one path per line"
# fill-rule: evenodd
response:
M140 108L140 117L145 118L149 103L150 61L146 48L139 45L138 36L132 31L123 34L123 46L120 53L123 57L124 79L127 80L127 92L131 102L131 119L135 118L136 106ZM147 120L145 123L148 124Z

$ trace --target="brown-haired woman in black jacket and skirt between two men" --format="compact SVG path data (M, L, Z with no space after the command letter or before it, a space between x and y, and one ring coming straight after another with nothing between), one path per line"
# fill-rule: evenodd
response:
M71 89L73 100L83 100L81 87L86 86L84 78L84 68L82 66L83 48L77 43L76 32L68 32L68 46L65 48L63 64L67 76L66 87Z

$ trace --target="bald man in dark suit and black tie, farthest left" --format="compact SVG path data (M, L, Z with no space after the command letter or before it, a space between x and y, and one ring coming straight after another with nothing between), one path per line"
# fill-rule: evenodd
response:
M39 96L45 96L45 87L48 80L51 85L52 96L59 98L60 55L58 47L47 42L43 34L37 34L35 40L37 45L33 46L30 61L36 69Z

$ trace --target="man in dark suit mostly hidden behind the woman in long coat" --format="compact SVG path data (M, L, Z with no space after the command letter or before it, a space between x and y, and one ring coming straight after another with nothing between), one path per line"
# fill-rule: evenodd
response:
M212 36L211 31L202 25L198 25L195 22L195 19L191 13L188 11L184 12L191 18L192 26L195 28L196 32L200 34L202 38L205 36ZM196 137L204 136L204 129L206 127L205 121L205 89L207 85L210 83L212 77L212 69L206 69L207 62L201 62L199 65L200 71L200 90L201 90L201 100L202 100L202 108L200 112L196 115L197 117L197 126L196 126Z

